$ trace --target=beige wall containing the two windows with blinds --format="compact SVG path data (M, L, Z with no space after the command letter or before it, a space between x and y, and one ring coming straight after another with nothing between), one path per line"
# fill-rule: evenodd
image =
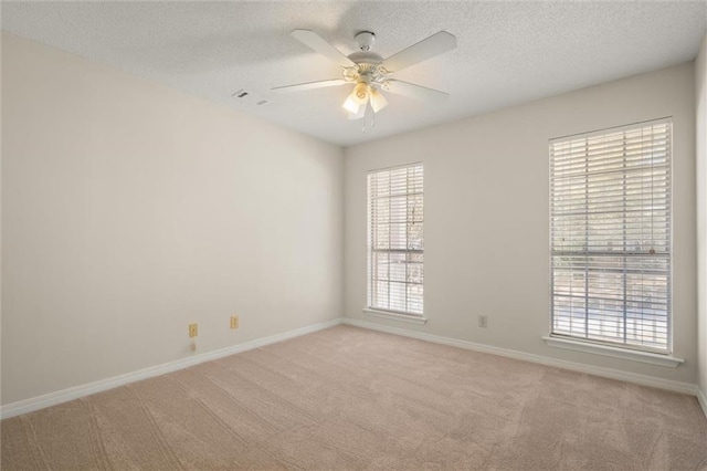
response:
M695 74L684 64L346 150L345 310L371 323L664 379L697 380ZM676 369L546 346L548 139L674 119ZM379 320L366 303L366 172L425 166L426 325ZM488 316L488 328L477 316Z

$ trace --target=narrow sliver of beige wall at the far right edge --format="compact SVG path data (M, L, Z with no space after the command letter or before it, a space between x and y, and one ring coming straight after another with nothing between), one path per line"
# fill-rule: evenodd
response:
M707 35L695 61L697 102L697 305L699 388L707 398ZM704 405L707 407L707 404ZM707 414L707 409L705 410Z

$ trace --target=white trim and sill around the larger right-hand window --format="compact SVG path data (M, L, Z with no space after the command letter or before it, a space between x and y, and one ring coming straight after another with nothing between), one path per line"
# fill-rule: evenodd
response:
M661 125L661 124L668 124L669 125L669 144L668 144L668 217L669 217L669 228L668 228L668 238L669 238L669 253L668 253L668 271L667 271L667 276L668 276L668 286L667 286L667 322L666 322L666 347L665 349L654 349L651 348L650 346L641 346L641 345L634 345L634 344L621 344L621 343L613 343L610 341L606 342L602 342L600 339L593 339L593 338L582 338L582 337L574 337L571 335L564 335L564 334L556 334L553 333L553 305L555 305L555 289L553 289L553 279L552 279L552 274L553 274L553 262L552 262L552 248L553 248L553 239L552 239L552 203L553 203L553 199L552 199L552 178L553 178L553 174L552 174L552 166L548 165L548 181L550 184L550 188L549 188L549 198L548 198L548 223L549 223L549 237L548 237L548 242L549 242L549 266L548 266L548 272L549 272L549 333L547 336L544 336L542 339L546 342L546 344L548 346L551 347L559 347L559 348L566 348L566 349L572 349L572 350L578 350L578 352L585 352L585 353L592 353L592 354L598 354L598 355L603 355L603 356L610 356L610 357L614 357L614 358L622 358L622 359L632 359L635 362L642 362L642 363L648 363L648 364L654 364L654 365L662 365L662 366L671 366L673 368L677 367L679 364L684 363L684 359L682 358L677 358L673 356L673 271L674 271L674 234L673 234L673 230L674 230L674 224L673 224L673 220L674 220L674 211L673 211L673 161L674 161L674 146L673 146L673 136L674 136L674 129L673 129L673 117L672 116L664 116L664 117L659 117L659 118L655 118L655 119L646 119L646 121L641 121L641 122L635 122L635 123L631 123L631 124L626 124L626 125L620 125L620 126L612 126L612 127L605 127L605 128L601 128L601 129L594 129L591 132L587 132L587 133L577 133L577 134L570 134L570 135L564 135L564 136L558 136L558 137L552 137L550 139L548 139L548 150L550 150L551 146L553 143L556 142L563 142L563 140L570 140L573 138L591 138L591 137L597 137L597 136L601 136L604 134L611 134L611 133L620 133L620 132L624 132L624 130L630 130L630 129L635 129L635 128L640 128L642 126L647 126L647 125Z

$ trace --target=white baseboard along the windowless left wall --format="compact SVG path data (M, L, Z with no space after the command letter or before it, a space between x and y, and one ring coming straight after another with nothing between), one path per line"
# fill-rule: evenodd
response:
M129 383L139 381L141 379L147 379L154 376L163 375L166 373L176 371L178 369L188 368L200 363L209 362L217 358L223 358L224 356L234 355L253 348L258 348L265 345L286 341L288 338L298 337L300 335L310 334L313 332L333 327L337 324L340 324L341 321L342 320L339 317L319 324L313 324L305 327L296 328L294 331L284 332L282 334L256 338L244 344L233 345L230 347L220 348L218 350L189 356L187 358L180 358L173 362L165 363L162 365L151 366L149 368L138 369L137 371L126 373L124 375L114 376L112 378L101 379L98 381L88 383L86 385L75 386L56 393L50 393L42 396L36 396L17 402L8 404L0 407L0 418L7 419L10 417L20 416L22 414L32 412L45 407L55 406L57 404L67 402L81 397L86 397L92 394L113 389L115 387L127 385Z

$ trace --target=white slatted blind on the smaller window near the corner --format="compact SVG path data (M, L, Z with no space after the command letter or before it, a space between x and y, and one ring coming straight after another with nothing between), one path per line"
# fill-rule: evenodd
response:
M368 307L423 314L423 169L368 174Z

